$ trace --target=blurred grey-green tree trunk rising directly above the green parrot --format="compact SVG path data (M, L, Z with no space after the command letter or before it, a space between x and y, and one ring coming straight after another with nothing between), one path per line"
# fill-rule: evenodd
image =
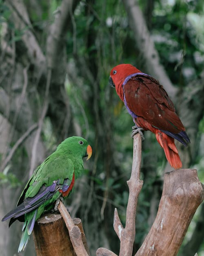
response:
M48 115L53 125L53 132L58 134L58 140L66 138L67 131L64 131L64 124L68 122L67 105L63 100L65 95L64 81L66 77L67 53L66 38L67 31L72 25L72 16L79 0L62 0L60 7L55 11L53 23L49 27L46 41L47 66L52 70L52 82L50 87L50 98L52 104L49 106ZM59 89L60 88L60 89ZM69 118L71 111L69 111ZM72 122L70 122L72 124Z

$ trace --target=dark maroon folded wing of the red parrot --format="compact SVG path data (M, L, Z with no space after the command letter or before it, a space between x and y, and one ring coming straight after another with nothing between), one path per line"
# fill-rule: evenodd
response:
M137 75L123 86L125 104L135 115L159 129L174 133L185 130L173 102L156 79Z

